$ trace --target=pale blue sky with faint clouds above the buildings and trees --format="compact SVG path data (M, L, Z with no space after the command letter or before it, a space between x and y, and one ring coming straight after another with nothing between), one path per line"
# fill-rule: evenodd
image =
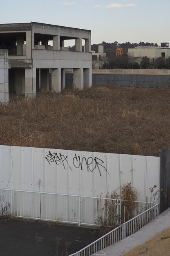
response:
M31 21L91 30L91 44L169 42L170 0L8 0L0 23ZM67 42L72 46L72 41Z

